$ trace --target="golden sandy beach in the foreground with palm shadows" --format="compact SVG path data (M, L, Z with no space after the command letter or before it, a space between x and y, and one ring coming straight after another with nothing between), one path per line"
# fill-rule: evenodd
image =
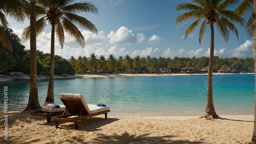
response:
M12 107L8 140L2 134L1 143L245 143L253 132L253 115L220 115L220 119L206 120L199 116L127 117L110 113L108 119L100 115L80 121L78 129L74 123L63 122L56 129L46 118L18 112L24 106ZM3 122L3 113L0 117Z

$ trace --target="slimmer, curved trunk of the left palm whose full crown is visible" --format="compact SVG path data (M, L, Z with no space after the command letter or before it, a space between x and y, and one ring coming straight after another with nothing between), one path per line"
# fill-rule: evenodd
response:
M48 92L46 96L46 101L43 104L54 104L54 36L55 36L55 24L52 23L52 33L51 33L51 62L50 62L50 71L49 71L49 85Z

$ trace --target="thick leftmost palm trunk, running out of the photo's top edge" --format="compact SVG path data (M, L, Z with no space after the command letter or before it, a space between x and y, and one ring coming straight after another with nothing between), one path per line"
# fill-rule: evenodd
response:
M25 110L40 110L36 71L36 0L30 1L30 91L29 102Z

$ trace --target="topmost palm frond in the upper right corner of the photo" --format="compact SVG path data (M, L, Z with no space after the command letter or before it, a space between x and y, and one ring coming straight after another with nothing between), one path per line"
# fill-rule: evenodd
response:
M238 13L241 16L244 16L248 13L251 13L253 9L253 0L244 0L236 10L234 10L236 13Z

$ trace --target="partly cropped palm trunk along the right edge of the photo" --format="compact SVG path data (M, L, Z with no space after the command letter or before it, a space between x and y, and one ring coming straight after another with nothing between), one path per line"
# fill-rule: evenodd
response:
M256 1L253 2L253 55L254 55L254 127L251 143L256 143Z

